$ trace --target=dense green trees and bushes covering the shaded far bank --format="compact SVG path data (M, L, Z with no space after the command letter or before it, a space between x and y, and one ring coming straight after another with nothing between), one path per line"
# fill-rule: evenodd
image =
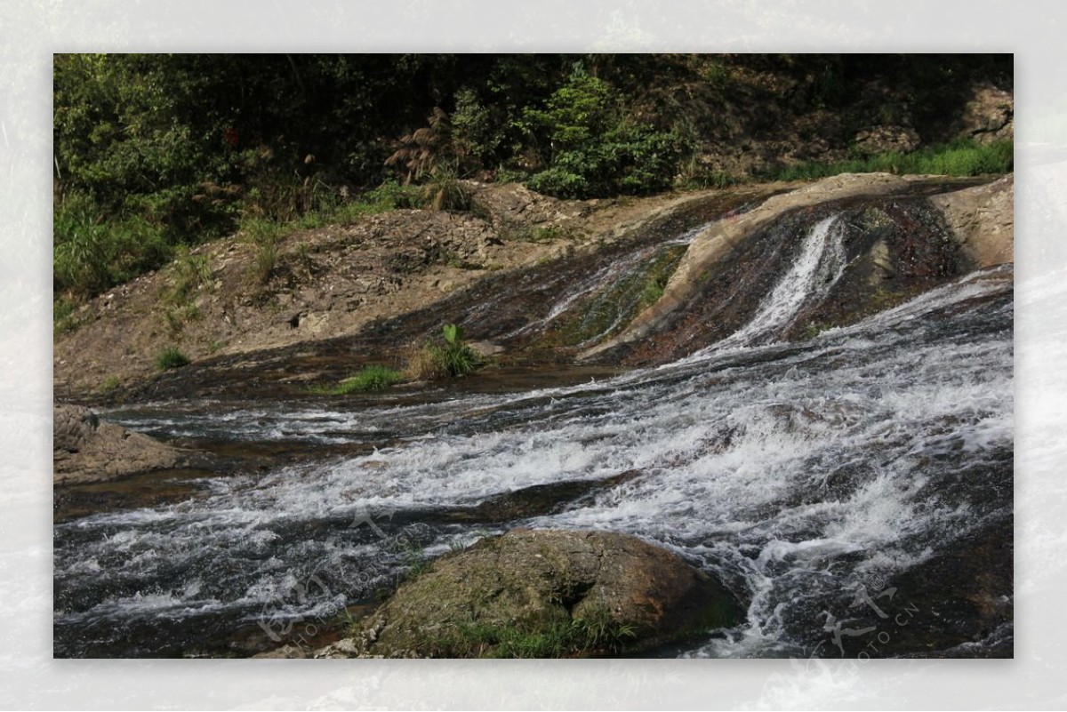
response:
M561 197L723 185L748 176L702 161L715 146L817 111L840 122L831 143L894 123L944 143L972 84L1012 71L1010 55L57 54L57 314L70 328L70 304L237 230L269 279L293 227L467 209L463 178ZM1004 169L1009 147L991 150L920 169Z

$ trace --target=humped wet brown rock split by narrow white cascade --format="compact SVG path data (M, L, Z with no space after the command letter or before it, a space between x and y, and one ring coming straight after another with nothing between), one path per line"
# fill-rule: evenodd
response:
M663 296L579 358L662 363L730 336L774 288L771 265L795 260L806 231L835 213L849 230L845 273L782 339L853 323L969 269L1010 261L1010 177L962 188L969 182L842 175L770 197L698 236Z

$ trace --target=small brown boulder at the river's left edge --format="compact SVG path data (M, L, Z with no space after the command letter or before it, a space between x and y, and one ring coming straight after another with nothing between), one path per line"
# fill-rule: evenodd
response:
M57 404L52 423L55 484L103 482L203 463L203 453L172 448L101 420L80 405Z

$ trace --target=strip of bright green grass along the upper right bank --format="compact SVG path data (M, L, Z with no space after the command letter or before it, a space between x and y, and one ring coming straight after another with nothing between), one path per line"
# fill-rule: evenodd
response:
M842 173L981 176L1013 169L1014 143L978 144L971 139L927 146L910 153L888 152L840 163L800 163L760 176L766 180L815 180Z

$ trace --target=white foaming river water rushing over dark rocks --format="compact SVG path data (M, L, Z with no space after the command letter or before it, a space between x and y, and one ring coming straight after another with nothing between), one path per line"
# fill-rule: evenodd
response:
M838 656L839 644L844 654L861 632L841 627L858 590L879 613L918 600L885 582L1010 521L1013 298L1010 270L991 270L776 342L841 276L840 244L834 219L819 222L747 326L606 381L355 409L169 402L112 414L169 437L366 454L204 478L188 501L57 525L57 654L246 652L242 635L291 640L421 557L517 525L633 533L745 601L744 625L664 654ZM562 295L552 315L589 289ZM633 470L517 519L471 515L501 493ZM927 625L937 638L939 624ZM977 645L1010 635L1008 625Z

